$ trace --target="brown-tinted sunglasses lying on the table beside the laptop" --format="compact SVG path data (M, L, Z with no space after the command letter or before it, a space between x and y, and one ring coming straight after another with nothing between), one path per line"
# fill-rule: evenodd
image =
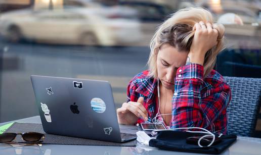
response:
M0 142L12 143L17 135L21 135L23 140L33 143L40 142L45 139L45 135L38 132L3 133L0 134Z

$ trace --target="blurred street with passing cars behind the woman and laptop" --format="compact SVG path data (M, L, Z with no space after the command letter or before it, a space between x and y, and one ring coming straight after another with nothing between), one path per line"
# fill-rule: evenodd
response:
M119 108L129 80L147 69L157 26L194 6L226 28L215 69L261 78L259 0L0 0L0 122L38 115L30 75L109 81Z

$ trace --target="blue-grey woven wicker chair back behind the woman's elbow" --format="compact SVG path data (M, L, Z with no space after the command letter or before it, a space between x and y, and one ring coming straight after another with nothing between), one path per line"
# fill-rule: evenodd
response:
M228 134L252 137L261 102L261 78L224 77L231 87Z

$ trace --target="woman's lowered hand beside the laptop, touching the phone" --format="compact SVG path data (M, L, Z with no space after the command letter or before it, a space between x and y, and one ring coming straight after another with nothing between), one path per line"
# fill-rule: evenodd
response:
M121 108L117 109L117 117L119 124L134 125L139 118L148 120L148 113L143 106L143 97L139 97L137 102L124 102Z

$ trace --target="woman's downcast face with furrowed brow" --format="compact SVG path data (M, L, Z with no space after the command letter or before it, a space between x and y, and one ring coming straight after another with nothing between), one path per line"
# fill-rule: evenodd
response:
M158 51L158 78L166 89L174 90L175 77L179 67L186 64L188 52L178 51L169 44L163 44Z

